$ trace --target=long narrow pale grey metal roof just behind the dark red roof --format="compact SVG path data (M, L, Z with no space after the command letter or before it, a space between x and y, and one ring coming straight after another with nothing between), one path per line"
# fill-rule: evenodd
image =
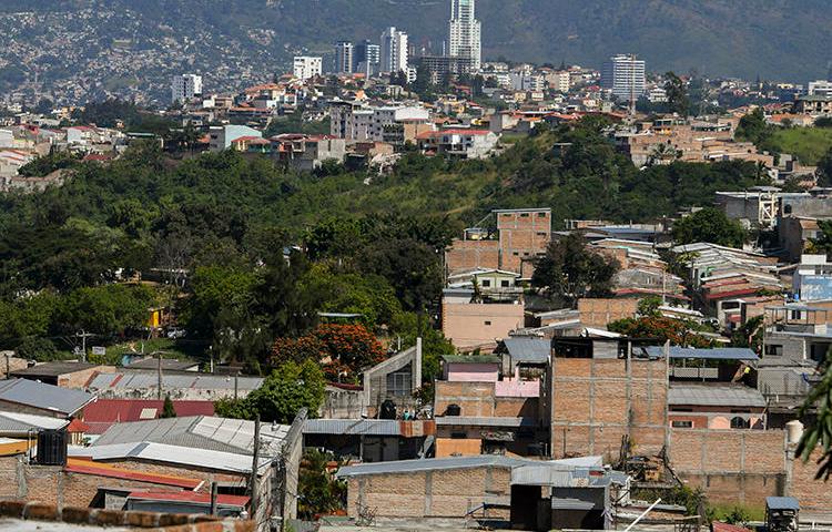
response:
M91 390L115 389L150 389L156 388L158 376L153 371L121 371L115 374L98 374L92 378L88 388ZM263 383L261 377L237 377L237 389L255 390ZM162 387L169 389L199 389L199 390L233 390L234 377L192 374L192 375L163 375Z

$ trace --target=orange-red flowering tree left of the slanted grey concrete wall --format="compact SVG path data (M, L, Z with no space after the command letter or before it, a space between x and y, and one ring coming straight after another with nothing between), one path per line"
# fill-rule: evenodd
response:
M363 325L323 324L300 338L278 338L272 346L272 364L288 360L318 362L332 381L354 381L364 368L384 360L382 344Z

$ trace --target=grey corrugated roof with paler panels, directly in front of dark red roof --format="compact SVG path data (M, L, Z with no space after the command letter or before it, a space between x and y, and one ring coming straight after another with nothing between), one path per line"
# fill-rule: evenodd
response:
M288 429L285 424L261 426L261 451L264 456L275 456L280 452ZM196 416L115 423L95 440L93 447L136 442L251 456L254 446L254 422Z

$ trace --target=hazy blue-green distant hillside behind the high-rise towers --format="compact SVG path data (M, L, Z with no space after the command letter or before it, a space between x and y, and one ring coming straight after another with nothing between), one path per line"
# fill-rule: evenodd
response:
M44 37L60 38L64 27L69 32L85 23L88 39L73 42L81 50L69 50L81 58L101 58L113 47L135 54L181 45L174 58L182 61L171 69L185 63L214 71L223 61L247 59L253 68L282 71L297 51L329 52L343 38L377 40L385 25L406 30L418 47L438 50L449 11L449 0L4 0L0 30L8 31L0 31L0 70L18 66L31 79L30 61L13 64L21 48L23 57L29 51L37 58ZM490 59L597 66L612 53L635 52L652 71L696 69L803 82L825 76L832 59L828 0L479 0L477 11ZM27 31L11 14L22 12L40 17ZM72 20L81 12L90 14ZM38 25L44 21L49 31ZM51 61L60 63L58 58ZM145 82L142 75L166 79L165 65L156 66L138 71L135 83ZM52 70L55 79L77 73L47 59L39 74L51 79ZM18 81L20 72L7 78ZM132 81L124 78L110 83Z

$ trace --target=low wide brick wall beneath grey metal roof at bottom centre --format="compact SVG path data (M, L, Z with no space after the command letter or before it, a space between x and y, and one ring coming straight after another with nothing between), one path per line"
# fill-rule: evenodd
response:
M508 504L510 481L509 468L493 467L353 477L347 513L356 516L362 504L377 516L459 519L484 501ZM507 518L508 510L489 515Z

